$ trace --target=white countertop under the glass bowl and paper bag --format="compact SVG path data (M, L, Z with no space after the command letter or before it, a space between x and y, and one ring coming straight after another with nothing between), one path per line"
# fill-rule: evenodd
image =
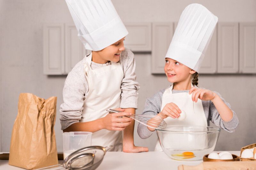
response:
M221 152L221 151L219 151ZM235 155L240 155L240 151L228 151ZM164 152L107 152L102 163L97 170L131 170L131 169L178 169L179 165L198 165L201 161L177 161L169 158ZM59 161L62 163L62 160ZM8 165L8 160L0 160L0 169L2 170L20 170L22 168Z

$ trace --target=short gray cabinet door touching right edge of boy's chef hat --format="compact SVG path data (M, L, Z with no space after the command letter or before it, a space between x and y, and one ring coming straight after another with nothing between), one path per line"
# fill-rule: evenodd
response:
M151 23L124 23L129 34L124 46L133 52L151 51Z

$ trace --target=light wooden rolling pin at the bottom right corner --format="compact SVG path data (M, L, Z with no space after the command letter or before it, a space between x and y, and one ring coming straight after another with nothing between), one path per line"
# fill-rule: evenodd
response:
M178 170L256 170L256 161L203 162L197 166L180 165Z

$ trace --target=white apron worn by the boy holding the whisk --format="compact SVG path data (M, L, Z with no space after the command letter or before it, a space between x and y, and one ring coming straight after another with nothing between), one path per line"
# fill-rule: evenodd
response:
M90 67L92 53L86 58L84 74L88 81L89 92L84 100L83 113L80 122L90 122L105 117L108 109L120 107L121 82L124 72L120 63L93 69ZM109 151L122 151L123 132L102 129L92 133L92 145L113 147Z

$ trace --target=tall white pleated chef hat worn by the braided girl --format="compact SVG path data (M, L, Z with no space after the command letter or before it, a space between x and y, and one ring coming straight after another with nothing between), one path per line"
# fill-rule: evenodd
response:
M218 17L203 5L188 5L180 16L165 58L198 72L217 22Z

